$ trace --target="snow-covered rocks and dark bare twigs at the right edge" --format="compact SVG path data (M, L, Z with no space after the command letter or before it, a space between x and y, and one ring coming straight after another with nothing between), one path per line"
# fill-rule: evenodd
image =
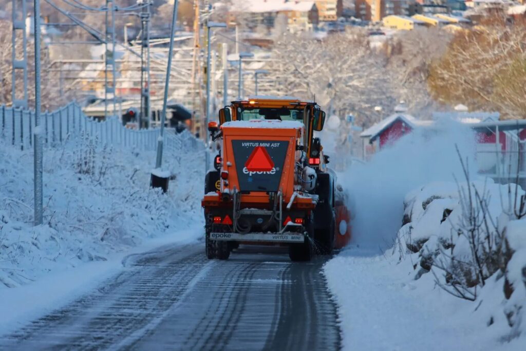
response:
M526 333L526 193L514 184L466 179L409 193L399 246L416 258L415 279L431 272L437 286L478 302L487 325L507 325L501 337L511 339Z

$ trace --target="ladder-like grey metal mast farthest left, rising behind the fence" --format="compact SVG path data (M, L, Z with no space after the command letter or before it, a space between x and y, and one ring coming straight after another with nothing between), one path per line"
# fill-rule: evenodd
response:
M18 12L21 12L18 16ZM11 64L12 64L12 79L11 79L11 102L13 107L27 108L27 35L26 35L26 0L13 0L12 2L12 21L13 29L11 33L12 48L11 48ZM16 57L16 34L18 31L22 32L22 59ZM23 81L17 82L17 72L22 71ZM20 84L22 83L22 84ZM23 87L22 98L16 95L16 88Z

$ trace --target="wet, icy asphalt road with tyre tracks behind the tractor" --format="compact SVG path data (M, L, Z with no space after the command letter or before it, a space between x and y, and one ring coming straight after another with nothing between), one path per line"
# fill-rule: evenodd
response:
M192 244L129 256L93 292L0 336L0 349L339 349L327 258L291 263L271 250L219 261Z

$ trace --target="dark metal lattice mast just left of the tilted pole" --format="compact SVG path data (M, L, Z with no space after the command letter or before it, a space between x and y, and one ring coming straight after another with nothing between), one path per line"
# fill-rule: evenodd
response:
M150 0L140 0L145 5L140 13L140 113L137 116L138 128L146 120L150 124ZM175 6L175 5L174 5Z

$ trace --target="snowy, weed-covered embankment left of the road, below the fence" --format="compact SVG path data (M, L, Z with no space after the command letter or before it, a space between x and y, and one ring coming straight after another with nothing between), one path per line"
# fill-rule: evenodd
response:
M161 172L175 180L164 195L149 188L155 153L91 139L46 149L44 224L38 227L32 226L33 153L0 141L0 155L0 294L202 220L203 157L191 150L165 157Z

